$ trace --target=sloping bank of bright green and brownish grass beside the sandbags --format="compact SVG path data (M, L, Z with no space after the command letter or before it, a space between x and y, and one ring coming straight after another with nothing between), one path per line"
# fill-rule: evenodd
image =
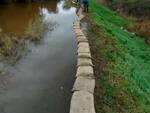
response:
M97 113L150 113L150 47L123 29L129 20L95 0L90 0L90 18Z

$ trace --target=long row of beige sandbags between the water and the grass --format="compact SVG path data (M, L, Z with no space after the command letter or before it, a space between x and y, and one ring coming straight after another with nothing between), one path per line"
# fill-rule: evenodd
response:
M71 99L70 113L95 113L95 77L88 39L80 28L80 20L83 17L82 10L80 9L78 12L78 18L74 22L78 50L76 80L72 89L73 95Z

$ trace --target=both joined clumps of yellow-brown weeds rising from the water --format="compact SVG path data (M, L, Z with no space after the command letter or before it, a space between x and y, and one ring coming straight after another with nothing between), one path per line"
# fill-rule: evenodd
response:
M31 20L24 35L0 33L0 61L15 64L26 52L26 42L37 43L44 35L47 25L42 21L42 16Z

